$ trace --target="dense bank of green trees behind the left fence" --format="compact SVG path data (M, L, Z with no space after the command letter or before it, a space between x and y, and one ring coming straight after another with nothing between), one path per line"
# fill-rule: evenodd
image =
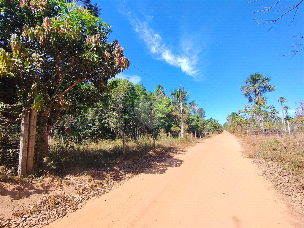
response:
M148 92L143 85L134 85L127 79L116 78L109 81L109 85L115 87L109 93L106 105L99 102L87 113L66 115L62 123L54 126L54 137L76 143L120 139L123 133L133 139L152 132L158 137L161 131L178 137L181 131L180 112L174 111L176 106L164 94L161 85L155 92ZM186 112L183 119L184 131L188 133L203 133L206 130L205 121L198 114ZM67 134L67 128L75 133L75 137ZM216 122L209 124L208 130L213 133L222 131Z

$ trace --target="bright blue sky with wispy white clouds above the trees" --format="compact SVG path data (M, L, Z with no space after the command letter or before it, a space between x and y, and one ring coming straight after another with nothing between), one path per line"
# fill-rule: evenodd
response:
M271 24L258 25L251 12L275 1L260 6L261 2L246 1L123 1L160 55L121 1L95 2L103 8L102 20L112 26L109 42L117 39L130 62L163 85L167 94L181 82L206 118L223 124L228 114L244 109L248 101L239 87L256 72L270 76L276 86L266 95L268 105L280 110L277 100L283 96L293 116L295 102L303 99L303 57L278 56L301 42L293 36L304 34L303 3L290 26L289 13L268 31ZM283 1L278 7L298 2ZM278 16L271 11L262 18ZM157 86L132 65L118 77L143 83L149 91Z

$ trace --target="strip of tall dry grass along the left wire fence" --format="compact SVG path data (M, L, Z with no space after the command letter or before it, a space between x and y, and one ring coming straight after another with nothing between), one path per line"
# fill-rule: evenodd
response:
M164 150L170 148L173 150L182 149L193 145L195 139L192 138L192 140L191 137L183 139L171 137L170 146L168 135L161 133L155 139L155 148L163 148ZM50 161L53 161L54 169L56 170L108 167L133 157L141 157L153 150L151 136L142 136L138 140L126 139L126 156L123 156L122 139L99 140L70 146L64 146L64 144L57 141L53 141L52 144L54 146L51 146L49 157Z

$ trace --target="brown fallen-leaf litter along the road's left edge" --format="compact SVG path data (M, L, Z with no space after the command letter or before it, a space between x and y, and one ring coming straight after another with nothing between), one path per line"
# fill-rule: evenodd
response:
M133 157L129 161L112 167L87 171L74 170L58 180L59 184L45 180L55 187L57 192L41 195L39 200L32 203L29 208L25 207L24 210L16 212L15 216L2 217L0 227L38 228L45 226L80 209L89 199L109 192L123 181L173 157L174 153L176 151L173 149L166 151L158 148L151 150L143 157ZM61 183L67 184L62 185ZM69 193L71 192L70 186L73 187L72 193Z

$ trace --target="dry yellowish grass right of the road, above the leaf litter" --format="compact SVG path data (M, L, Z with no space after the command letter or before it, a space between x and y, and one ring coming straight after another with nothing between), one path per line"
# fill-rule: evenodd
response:
M274 161L294 174L304 173L304 134L277 136L240 136L245 157Z

